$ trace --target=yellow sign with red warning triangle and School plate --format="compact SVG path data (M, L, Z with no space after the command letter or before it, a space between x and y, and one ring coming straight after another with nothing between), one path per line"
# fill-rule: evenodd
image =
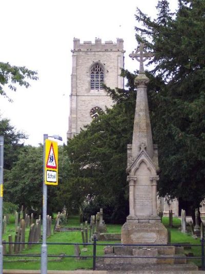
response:
M58 146L57 142L45 140L45 184L58 184Z

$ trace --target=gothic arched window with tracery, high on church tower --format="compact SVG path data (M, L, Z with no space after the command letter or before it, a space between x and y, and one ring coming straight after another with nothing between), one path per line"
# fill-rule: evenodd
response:
M103 90L104 69L96 63L92 66L90 72L90 88L91 90Z

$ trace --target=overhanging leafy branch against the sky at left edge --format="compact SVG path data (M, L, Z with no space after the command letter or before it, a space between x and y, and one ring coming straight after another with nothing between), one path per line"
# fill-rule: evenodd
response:
M37 80L37 72L26 67L11 66L8 62L0 62L0 94L12 101L6 94L4 86L16 91L16 83L28 88L30 86L26 79Z

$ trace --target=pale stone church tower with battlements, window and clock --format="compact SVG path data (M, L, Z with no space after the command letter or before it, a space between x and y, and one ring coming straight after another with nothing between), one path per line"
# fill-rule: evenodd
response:
M103 83L112 89L124 88L120 68L124 68L123 40L117 43L95 39L84 41L74 38L72 55L70 115L68 138L78 134L101 111L113 105L103 89Z

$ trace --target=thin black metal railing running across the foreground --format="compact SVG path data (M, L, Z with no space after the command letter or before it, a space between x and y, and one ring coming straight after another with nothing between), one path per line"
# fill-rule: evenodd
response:
M93 243L51 243L51 242L47 242L47 245L91 245L93 246L93 255L92 256L73 256L73 255L48 255L48 257L58 257L58 258L92 258L93 259L93 263L92 263L92 269L95 270L96 269L96 259L97 258L140 258L140 259L157 259L159 257L157 256L152 256L152 257L147 257L147 256L98 256L97 255L97 246L133 246L133 247L157 247L157 246L183 246L183 247L197 247L197 246L201 246L201 256L189 256L186 257L186 259L200 259L201 260L201 270L205 270L205 252L204 252L204 237L201 238L200 240L200 244L122 244L122 243L118 243L118 244L112 244L112 243L107 243L107 244L103 244L103 243L97 243L97 238L96 236L93 237ZM32 245L41 245L42 243L37 243L37 242L4 242L4 244L32 244ZM36 254L6 254L4 255L5 257L41 257L40 254L36 255ZM160 259L185 259L185 257L180 257L180 256L160 256Z

